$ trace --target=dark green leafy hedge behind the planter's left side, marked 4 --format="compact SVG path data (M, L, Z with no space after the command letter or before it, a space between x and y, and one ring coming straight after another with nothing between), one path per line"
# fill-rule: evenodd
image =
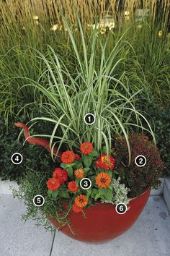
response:
M30 108L31 111L35 112L35 109ZM30 145L27 142L24 143L24 136L17 141L19 135L19 130L14 127L14 121L27 122L27 116L24 114L18 117L13 117L9 119L8 127L4 124L4 120L0 119L0 177L1 179L16 180L19 182L19 178L24 176L29 168L39 169L43 171L45 168L50 168L56 166L57 164L52 161L50 155L46 150L42 149L40 146ZM49 124L38 124L36 129L31 129L32 132L40 131L53 131L53 127ZM14 165L11 161L13 153L21 153L23 156L23 161L19 165Z

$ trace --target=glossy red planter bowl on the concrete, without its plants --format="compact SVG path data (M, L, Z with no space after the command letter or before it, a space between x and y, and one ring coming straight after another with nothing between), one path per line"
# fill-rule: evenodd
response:
M61 231L73 239L83 242L107 242L120 236L135 223L140 216L151 189L147 189L139 197L130 200L129 210L125 214L118 214L115 205L106 203L97 203L90 208L85 208L84 213L69 213L69 223L75 234L71 233L68 225L62 227ZM58 227L55 219L50 219L53 226Z

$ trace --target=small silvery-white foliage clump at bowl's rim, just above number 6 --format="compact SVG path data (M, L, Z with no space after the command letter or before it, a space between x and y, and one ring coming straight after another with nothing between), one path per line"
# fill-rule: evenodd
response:
M130 202L130 198L128 198L127 195L130 189L128 189L128 187L125 187L125 184L120 184L120 177L118 179L112 179L110 185L113 188L114 194L112 201L101 200L101 202L112 203L112 205L117 205L119 202L123 202L125 203L125 205L128 205L128 203Z

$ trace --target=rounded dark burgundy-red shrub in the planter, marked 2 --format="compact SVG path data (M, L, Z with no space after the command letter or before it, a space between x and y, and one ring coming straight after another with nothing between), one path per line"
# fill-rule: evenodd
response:
M130 189L130 197L136 197L143 193L148 187L157 188L160 185L158 178L164 174L164 163L161 161L160 153L146 135L132 134L129 137L132 159L128 165L128 148L125 138L117 137L115 142L116 169L120 179ZM135 158L138 155L146 157L146 165L138 167Z

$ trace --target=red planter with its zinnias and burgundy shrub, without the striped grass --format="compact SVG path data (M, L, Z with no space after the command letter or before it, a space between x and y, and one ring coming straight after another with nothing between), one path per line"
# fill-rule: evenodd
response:
M27 142L42 145L50 152L48 140L38 137L31 137L30 140L27 126L20 123L15 125L24 128ZM46 178L40 174L36 181L34 174L32 175L33 187L36 188L37 182L47 201L47 208L44 204L40 211L55 228L83 242L107 242L130 229L146 205L150 188L158 187L158 176L161 175L164 164L156 146L145 135L133 134L129 136L129 140L132 150L130 164L125 138L117 137L114 153L107 155L103 148L100 154L90 142L83 142L79 154L71 150L60 152L57 158L60 160L60 167L55 168ZM54 151L58 152L56 147ZM136 155L142 154L148 159L145 168L135 163ZM22 184L21 190L26 205L34 213L33 218L35 207L31 204L37 189L32 191L32 198L28 198L32 187L29 179L26 176L27 182ZM84 179L91 181L88 187L82 184ZM24 187L25 184L28 187ZM15 195L21 197L22 193L17 192ZM119 203L127 206L124 214L117 213Z

